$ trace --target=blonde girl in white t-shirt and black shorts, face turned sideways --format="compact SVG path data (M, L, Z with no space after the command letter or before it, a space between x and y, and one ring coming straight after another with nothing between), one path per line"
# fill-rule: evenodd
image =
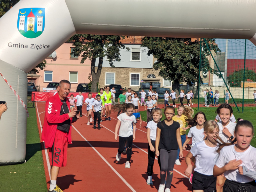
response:
M196 158L196 168L192 178L193 191L216 191L216 175L213 174L214 159L218 156L219 126L213 120L207 121L203 126L206 139L197 143L185 157L187 169L186 176L190 176L193 166L191 159Z

